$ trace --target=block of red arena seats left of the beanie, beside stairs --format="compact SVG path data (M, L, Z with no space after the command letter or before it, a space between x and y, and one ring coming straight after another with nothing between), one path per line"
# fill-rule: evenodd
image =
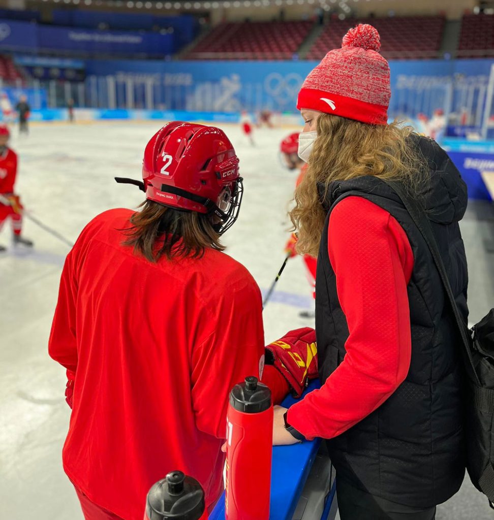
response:
M292 59L312 22L222 23L194 47L186 59Z

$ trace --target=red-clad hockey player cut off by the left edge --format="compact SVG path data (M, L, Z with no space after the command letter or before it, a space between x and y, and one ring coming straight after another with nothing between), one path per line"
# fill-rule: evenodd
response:
M10 132L7 125L0 124L0 229L10 217L14 245L21 244L31 247L31 240L21 236L22 232L22 204L20 197L14 193L14 184L17 175L17 154L7 144ZM0 252L6 251L0 244Z

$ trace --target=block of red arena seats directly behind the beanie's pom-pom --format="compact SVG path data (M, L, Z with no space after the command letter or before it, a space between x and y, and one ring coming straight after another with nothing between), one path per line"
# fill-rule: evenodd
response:
M370 23L381 35L381 53L387 58L436 58L445 19L440 16L413 16L332 20L310 49L307 59L319 60L328 50L339 48L350 27Z

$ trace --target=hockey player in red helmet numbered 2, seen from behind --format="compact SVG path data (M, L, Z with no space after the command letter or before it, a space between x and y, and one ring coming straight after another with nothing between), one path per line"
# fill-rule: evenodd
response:
M67 369L64 469L86 520L141 520L172 470L211 510L231 387L263 375L274 402L288 391L263 371L260 290L220 242L242 200L238 159L221 129L175 121L146 146L144 182L119 180L141 185L141 211L95 217L60 281L49 354Z

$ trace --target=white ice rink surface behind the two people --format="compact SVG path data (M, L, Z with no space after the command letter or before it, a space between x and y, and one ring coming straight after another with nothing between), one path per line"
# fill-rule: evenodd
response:
M111 207L143 199L114 176L140 179L142 153L156 123L33 125L11 139L19 154L16 191L27 210L74 241L84 225ZM224 126L240 157L245 196L239 219L224 236L227 253L242 262L265 290L283 259L286 210L297 173L284 170L277 150L290 129L260 129L253 148L236 126ZM24 220L32 251L13 248L7 223L0 243L0 519L77 520L77 498L61 467L69 408L65 371L47 355L61 267L69 248ZM264 310L267 341L289 329L312 326L298 317L312 308L300 258L291 259Z

